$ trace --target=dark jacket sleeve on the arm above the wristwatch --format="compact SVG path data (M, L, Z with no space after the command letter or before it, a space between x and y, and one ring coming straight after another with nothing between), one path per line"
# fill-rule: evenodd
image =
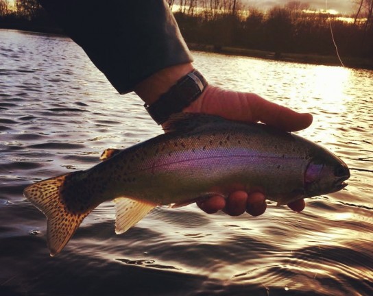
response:
M192 62L164 0L40 0L119 93L175 64Z

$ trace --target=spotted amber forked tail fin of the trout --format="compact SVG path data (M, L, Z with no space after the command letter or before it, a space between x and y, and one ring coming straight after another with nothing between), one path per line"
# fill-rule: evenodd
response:
M53 177L27 186L23 190L23 195L47 216L47 243L51 256L62 250L83 219L91 212L89 208L80 211L69 210L66 200L62 197L62 189L67 178L70 179L76 173L81 172Z

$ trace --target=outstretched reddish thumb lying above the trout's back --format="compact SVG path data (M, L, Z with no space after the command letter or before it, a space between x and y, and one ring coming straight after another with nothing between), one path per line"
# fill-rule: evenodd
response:
M267 125L278 127L287 132L304 130L312 123L312 115L309 113L298 113L294 110L280 106L263 99L262 97L251 97L252 116L256 121Z

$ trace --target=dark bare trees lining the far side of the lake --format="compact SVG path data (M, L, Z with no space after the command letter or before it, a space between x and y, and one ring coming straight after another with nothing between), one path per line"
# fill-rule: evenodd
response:
M267 12L245 8L240 0L168 0L186 42L281 53L335 54L330 27L341 56L373 58L373 0L352 0L356 12L340 15L312 11L289 1ZM107 5L103 2L103 5ZM0 0L0 26L56 27L37 0Z

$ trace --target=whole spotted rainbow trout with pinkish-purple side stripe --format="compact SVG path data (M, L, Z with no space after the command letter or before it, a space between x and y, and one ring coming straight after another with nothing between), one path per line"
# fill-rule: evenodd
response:
M101 158L104 162L91 169L23 191L47 216L51 256L104 201L116 203L115 231L120 234L156 206L184 206L252 188L284 205L341 190L350 177L342 160L300 136L201 114L177 114L166 134L127 149L108 149Z

